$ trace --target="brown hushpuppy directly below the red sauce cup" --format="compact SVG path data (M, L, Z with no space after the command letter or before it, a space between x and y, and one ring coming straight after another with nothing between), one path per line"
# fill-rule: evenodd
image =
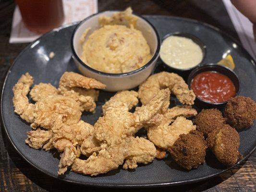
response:
M212 108L203 109L198 113L194 123L196 125L196 130L203 132L204 135L207 136L210 132L225 124L226 120L218 109Z

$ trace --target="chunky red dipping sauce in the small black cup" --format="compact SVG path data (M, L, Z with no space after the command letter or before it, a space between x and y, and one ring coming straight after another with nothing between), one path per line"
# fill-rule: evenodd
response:
M210 103L222 103L235 96L235 85L226 75L208 71L197 74L191 82L195 95Z

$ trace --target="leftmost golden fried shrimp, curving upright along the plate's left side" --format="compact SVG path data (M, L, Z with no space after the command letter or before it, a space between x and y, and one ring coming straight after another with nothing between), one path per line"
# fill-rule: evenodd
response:
M20 115L20 117L29 122L33 123L35 116L34 112L34 105L28 103L27 94L29 92L29 87L33 84L34 79L33 77L26 72L18 82L13 86L13 107L14 112Z

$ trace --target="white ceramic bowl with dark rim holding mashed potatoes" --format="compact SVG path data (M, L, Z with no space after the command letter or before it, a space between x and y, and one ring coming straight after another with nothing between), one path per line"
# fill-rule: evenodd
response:
M82 55L82 45L80 43L80 37L84 33L85 29L91 27L91 30L88 32L86 38L93 33L96 29L99 28L98 18L100 16L111 16L116 11L107 11L107 12L99 12L97 14L91 15L83 20L73 31L73 35L71 38L71 48L73 51L73 59L75 64L80 72L82 72L86 77L94 78L104 84L107 85L106 91L120 91L126 89L132 89L143 81L151 74L156 65L159 49L160 49L160 39L158 36L158 32L155 27L150 24L145 18L138 17L137 21L137 29L140 30L145 37L151 51L152 58L149 60L146 65L141 68L126 73L107 73L100 72L95 70L86 63L84 63L80 56ZM86 41L85 38L85 41Z

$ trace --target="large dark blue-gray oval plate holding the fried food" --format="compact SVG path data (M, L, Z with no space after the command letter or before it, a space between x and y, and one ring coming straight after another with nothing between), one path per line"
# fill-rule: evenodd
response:
M191 33L199 37L207 46L205 63L216 62L221 59L223 53L230 51L236 63L234 71L242 83L240 95L250 96L256 100L255 63L244 48L230 36L212 26L189 19L165 16L146 16L146 18L155 25L160 38L176 31ZM58 177L58 153L55 151L35 150L25 144L26 132L31 129L29 124L25 123L13 112L12 87L25 72L29 72L35 78L35 84L44 82L55 86L58 86L58 81L63 72L77 72L71 58L70 48L70 37L74 27L75 25L66 26L58 31L50 32L30 44L16 58L5 79L1 98L2 124L14 148L26 161L49 176L73 183L104 187L178 185L206 180L227 170L227 168L219 164L211 152L207 152L206 163L189 172L178 167L171 157L167 156L164 160L155 159L146 166L140 165L133 171L118 168L98 177L67 172L64 177ZM55 52L55 57L49 60L48 55L51 51ZM160 60L158 64L156 71L164 70ZM111 93L101 91L96 113L84 114L82 119L94 124L101 115L102 104L110 96L112 96ZM239 150L244 157L248 157L255 149L255 127L256 125L239 132L241 138Z

